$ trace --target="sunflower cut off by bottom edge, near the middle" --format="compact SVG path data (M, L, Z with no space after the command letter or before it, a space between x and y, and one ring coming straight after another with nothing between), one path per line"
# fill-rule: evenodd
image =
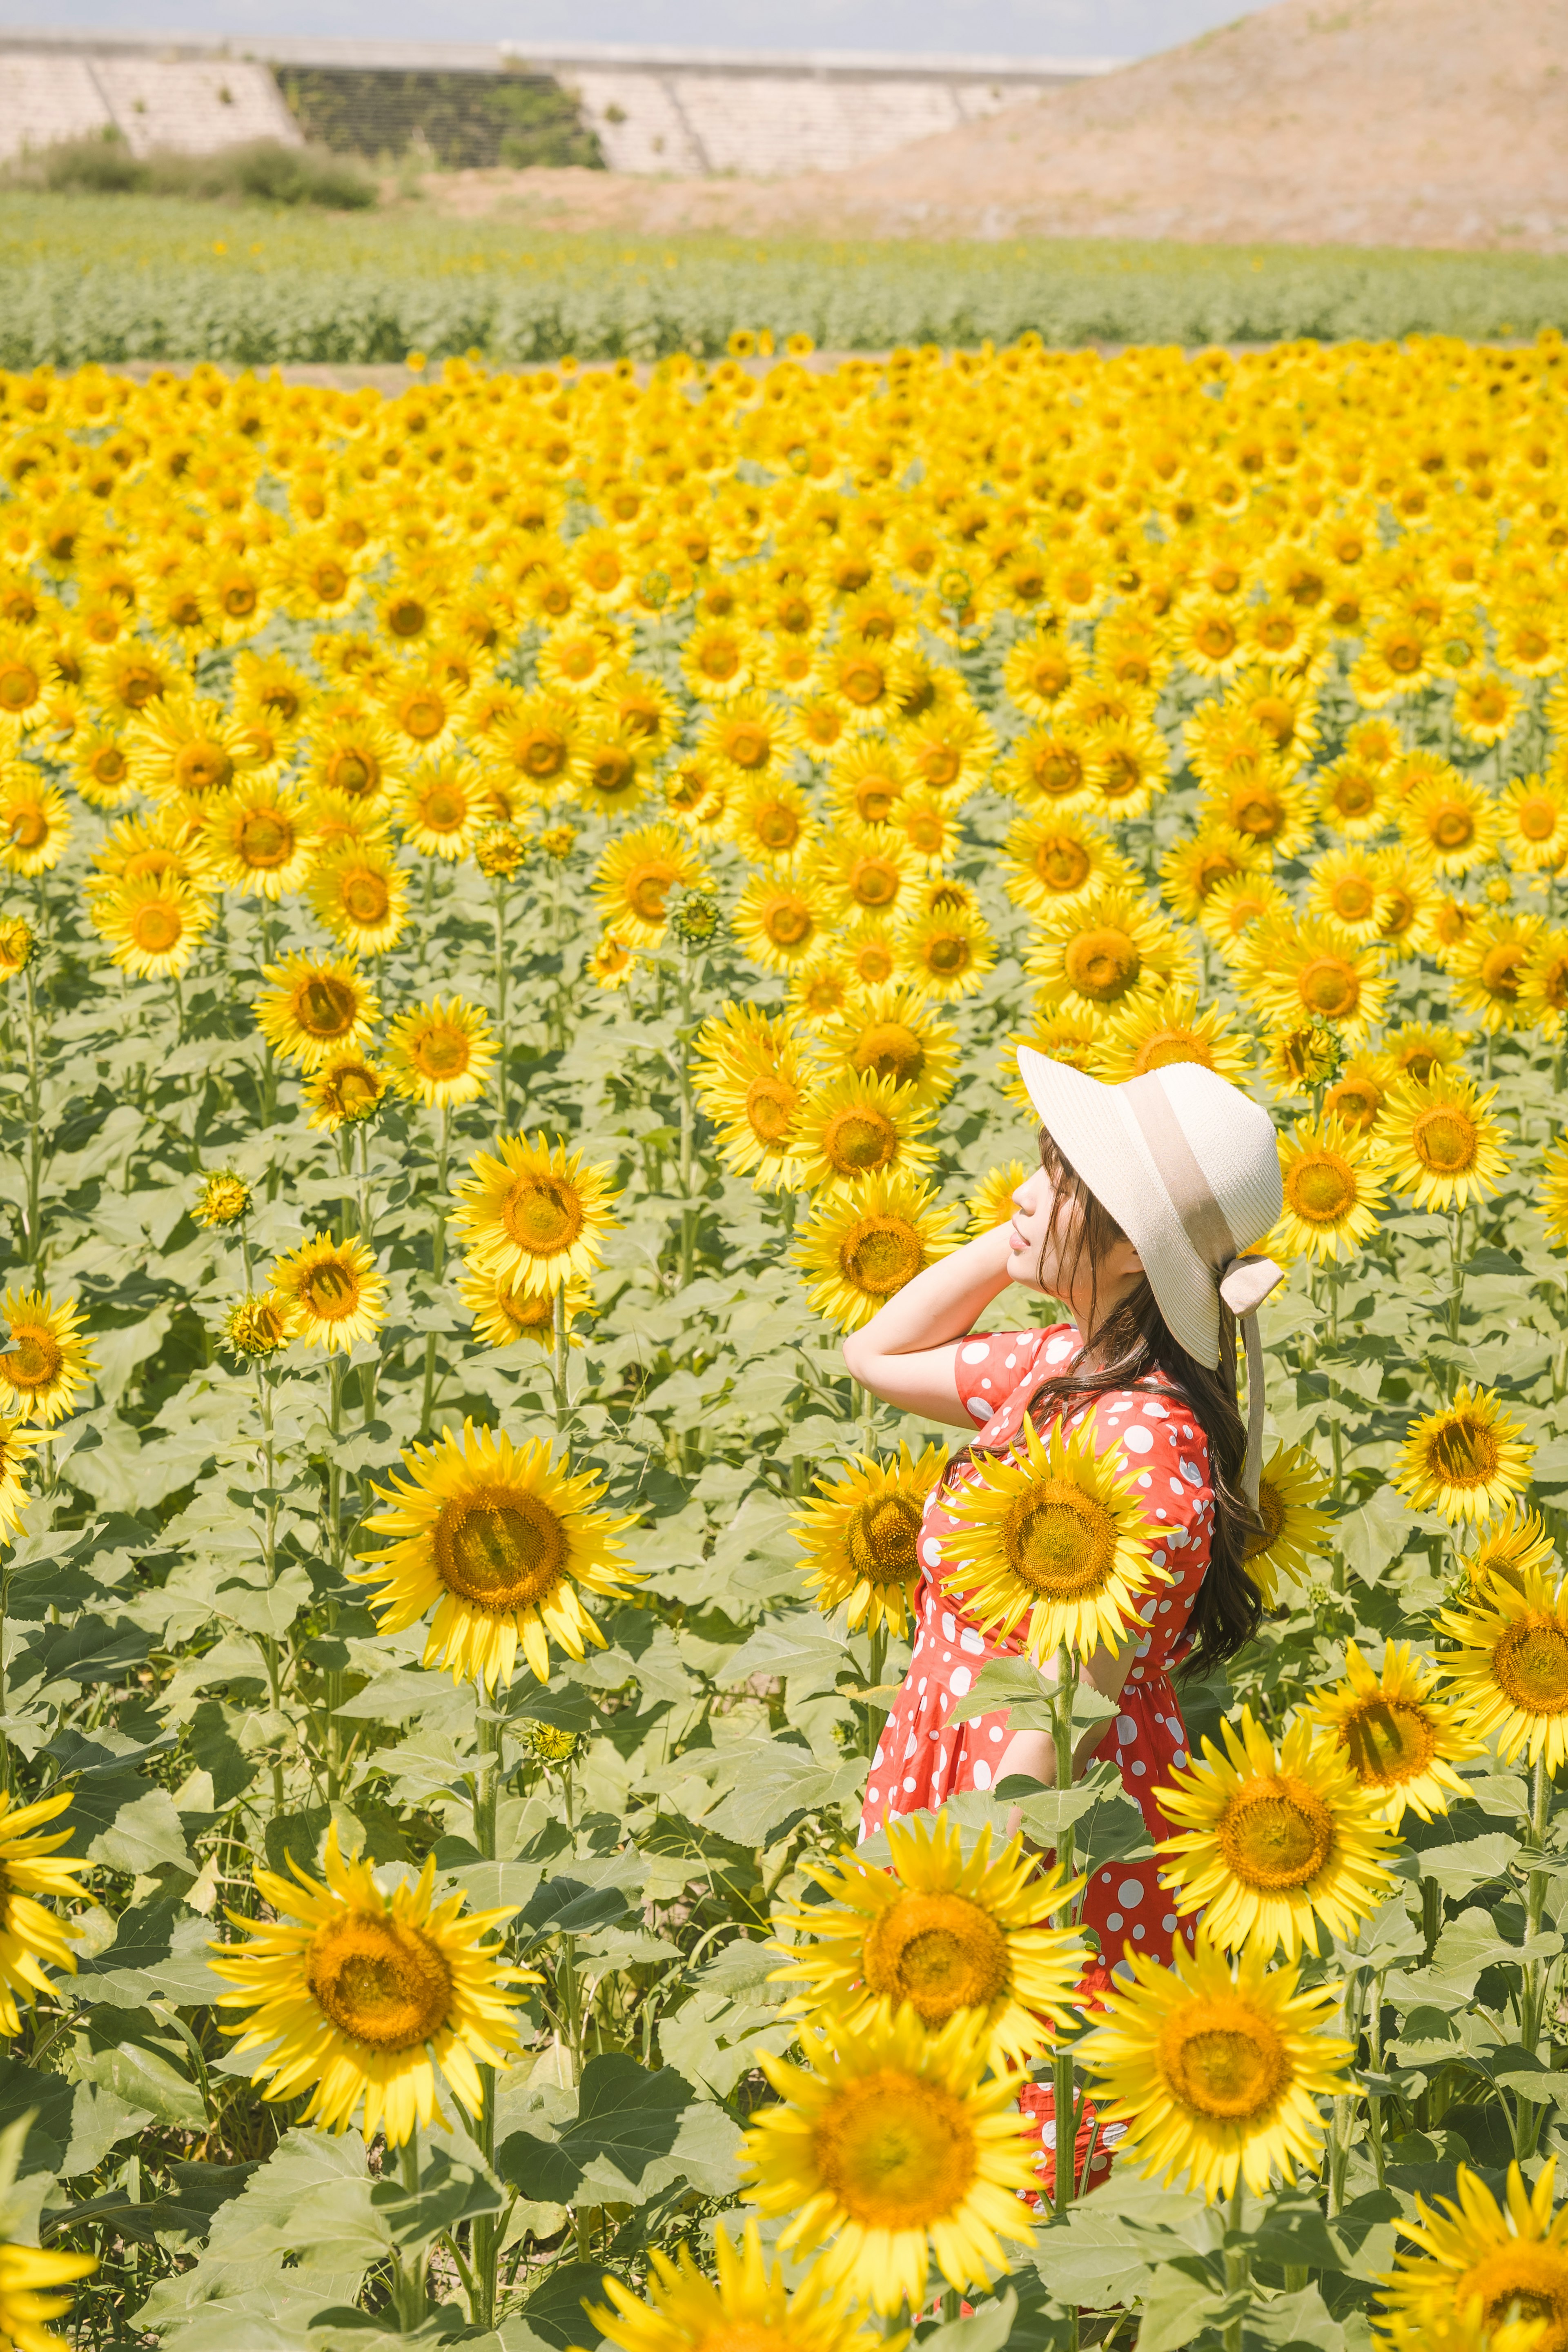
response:
M691 2256L677 2246L675 2260L649 2251L646 2300L621 2279L607 2277L611 2310L583 2305L599 2336L618 2352L719 2352L722 2345L750 2352L903 2352L907 2331L891 2338L867 2333L858 2305L844 2288L830 2288L823 2265L813 2263L790 2291L783 2263L773 2270L762 2258L755 2218L745 2223L741 2251L719 2225L712 2232L715 2279L708 2279Z

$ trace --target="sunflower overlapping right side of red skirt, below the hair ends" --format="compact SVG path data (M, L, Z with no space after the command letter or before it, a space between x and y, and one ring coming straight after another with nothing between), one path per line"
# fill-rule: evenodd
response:
M1251 1708L1239 1726L1220 1717L1220 1736L1225 1750L1204 1740L1204 1762L1154 1792L1178 1823L1154 1849L1171 1907L1201 1910L1215 1943L1260 1962L1312 1952L1319 1924L1347 1943L1389 1886L1380 1799L1300 1715L1279 1755Z

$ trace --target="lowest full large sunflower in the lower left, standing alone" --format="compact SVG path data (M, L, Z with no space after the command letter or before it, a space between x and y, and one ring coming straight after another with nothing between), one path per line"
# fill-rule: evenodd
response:
M327 1830L322 1877L289 1860L292 1879L256 1870L270 1919L228 1912L244 1943L214 1943L214 1976L233 1985L219 2009L249 2016L233 2056L256 2053L254 2084L266 2098L310 2093L306 2119L346 2131L364 2100L369 2143L386 2133L402 2147L416 2129L449 2129L437 2070L458 2107L480 2114L480 2067L505 2065L517 2049L512 2009L538 1978L505 1964L487 1931L508 1907L465 1912L458 1891L435 1903L435 1856L418 1879L390 1896L369 1860L346 1860L336 1823Z

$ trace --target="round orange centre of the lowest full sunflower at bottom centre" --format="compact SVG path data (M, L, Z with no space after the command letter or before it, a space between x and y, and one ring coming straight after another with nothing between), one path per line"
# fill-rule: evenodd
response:
M823 2185L867 2230L924 2230L969 2194L978 2152L964 2100L879 2067L846 2084L811 2131Z

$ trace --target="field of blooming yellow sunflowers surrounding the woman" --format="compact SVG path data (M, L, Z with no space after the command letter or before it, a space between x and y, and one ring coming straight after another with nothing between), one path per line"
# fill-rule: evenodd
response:
M0 2343L1563 2352L1566 390L0 376ZM1159 1856L856 1846L952 1435L842 1338L1018 1042L1279 1129ZM1150 1621L1016 1475L1009 1623Z

